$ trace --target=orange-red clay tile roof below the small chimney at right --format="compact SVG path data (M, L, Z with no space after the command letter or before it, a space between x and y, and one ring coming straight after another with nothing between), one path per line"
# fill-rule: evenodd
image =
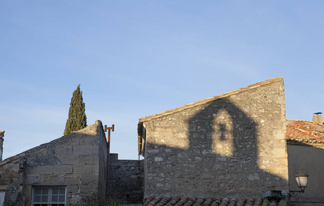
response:
M287 120L287 141L324 144L324 125L303 120Z

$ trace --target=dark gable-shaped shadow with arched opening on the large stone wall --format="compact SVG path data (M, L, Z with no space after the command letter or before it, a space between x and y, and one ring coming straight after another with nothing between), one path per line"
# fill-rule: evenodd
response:
M228 99L201 107L198 113L194 113L197 107L186 111L194 113L188 119L188 128L183 128L188 129L188 149L148 144L150 183L146 184L145 196L260 196L263 190L286 189L287 181L258 166L259 126L253 119ZM150 160L152 155L155 161Z

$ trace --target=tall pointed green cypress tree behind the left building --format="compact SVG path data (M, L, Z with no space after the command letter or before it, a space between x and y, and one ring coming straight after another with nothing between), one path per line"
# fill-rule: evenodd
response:
M81 130L87 126L87 116L85 115L85 104L83 103L82 91L80 91L80 84L73 92L69 117L65 124L64 135L69 135L73 131Z

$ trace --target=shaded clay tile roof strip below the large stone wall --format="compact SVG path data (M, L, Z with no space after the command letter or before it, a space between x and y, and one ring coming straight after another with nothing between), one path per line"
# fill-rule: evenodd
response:
M277 200L267 198L219 198L219 197L199 197L188 196L148 196L144 199L143 206L153 205L174 205L174 206L276 206L279 205Z

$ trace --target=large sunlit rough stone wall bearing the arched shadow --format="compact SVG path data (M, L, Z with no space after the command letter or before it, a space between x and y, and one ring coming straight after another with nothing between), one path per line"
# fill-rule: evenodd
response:
M189 105L143 120L145 197L287 190L282 78Z

